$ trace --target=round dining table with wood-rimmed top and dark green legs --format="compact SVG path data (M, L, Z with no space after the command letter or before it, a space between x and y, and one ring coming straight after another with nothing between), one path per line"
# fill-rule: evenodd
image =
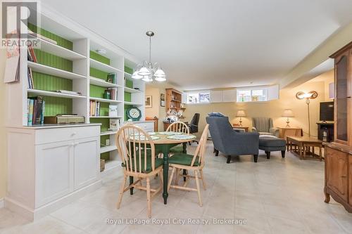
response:
M191 138L187 139L171 139L168 136L172 135L165 135L163 132L159 133L156 132L152 136L158 137L158 139L153 140L153 143L156 148L156 154L163 153L163 198L164 204L168 203L168 175L169 175L169 153L170 149L176 145L183 145L183 153L187 153L187 143L193 141L196 136L192 134L182 134L190 136ZM184 171L184 174L186 171ZM133 183L133 176L130 176L130 184ZM130 188L130 194L133 194L133 188Z

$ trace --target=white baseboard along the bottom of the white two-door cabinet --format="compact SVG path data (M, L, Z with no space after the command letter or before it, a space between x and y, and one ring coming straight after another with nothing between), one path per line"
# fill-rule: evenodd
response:
M12 200L9 197L5 197L4 204L7 209L10 209L12 212L20 214L21 216L25 217L25 219L28 219L30 221L36 221L38 219L42 219L42 217L52 212L55 212L56 210L64 207L65 205L74 202L80 197L84 197L84 195L92 193L94 190L101 188L101 186L101 180L96 181L90 184L89 186L86 186L84 188L81 188L80 190L65 195L64 197L61 197L58 200L55 200L54 202L44 204L42 207L39 207L37 209L31 209L30 207L23 206L23 204L20 204L19 202L16 202L15 200Z

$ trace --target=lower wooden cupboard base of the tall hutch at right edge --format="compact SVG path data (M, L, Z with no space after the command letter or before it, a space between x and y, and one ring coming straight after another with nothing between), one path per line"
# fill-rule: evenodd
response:
M330 196L352 212L352 152L325 143L325 202Z

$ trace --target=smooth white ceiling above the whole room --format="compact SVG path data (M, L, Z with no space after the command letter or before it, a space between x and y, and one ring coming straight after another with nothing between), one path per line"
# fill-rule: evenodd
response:
M42 0L183 89L278 82L352 21L351 0Z

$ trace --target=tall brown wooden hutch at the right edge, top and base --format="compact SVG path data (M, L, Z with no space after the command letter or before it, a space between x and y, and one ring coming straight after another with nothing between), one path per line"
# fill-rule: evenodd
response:
M334 141L325 145L325 202L330 195L352 212L352 42L334 58Z

